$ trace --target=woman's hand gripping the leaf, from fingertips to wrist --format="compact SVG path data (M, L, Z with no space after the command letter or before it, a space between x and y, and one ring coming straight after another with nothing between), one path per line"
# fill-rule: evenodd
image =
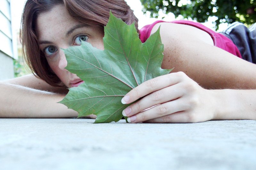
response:
M183 72L148 80L122 99L123 104L134 101L123 111L130 123L204 122L214 119L218 108L213 92Z

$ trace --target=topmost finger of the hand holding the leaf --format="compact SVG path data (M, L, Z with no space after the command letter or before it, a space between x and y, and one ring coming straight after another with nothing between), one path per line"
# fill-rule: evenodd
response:
M175 85L185 77L187 77L185 73L177 72L145 81L128 92L122 99L122 103L132 103L133 101L136 101L149 93L155 92L167 86Z

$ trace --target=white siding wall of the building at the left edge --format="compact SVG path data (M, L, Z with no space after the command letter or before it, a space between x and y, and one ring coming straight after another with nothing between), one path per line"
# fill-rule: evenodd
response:
M14 77L13 58L17 58L17 49L13 50L12 39L15 38L12 35L15 34L11 26L10 0L0 0L0 80Z

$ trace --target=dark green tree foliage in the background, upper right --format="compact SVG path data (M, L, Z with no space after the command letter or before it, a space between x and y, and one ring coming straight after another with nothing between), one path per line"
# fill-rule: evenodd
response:
M210 16L216 16L216 29L220 23L235 21L251 25L256 21L256 0L140 0L143 12L150 12L151 17L158 18L159 11L172 12L177 18L191 18L206 22Z

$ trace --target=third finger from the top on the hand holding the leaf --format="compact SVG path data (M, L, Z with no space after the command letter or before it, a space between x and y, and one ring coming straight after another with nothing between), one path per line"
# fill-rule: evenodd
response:
M157 117L163 117L165 115L187 110L189 105L182 101L184 100L177 99L157 105L136 115L128 117L127 121L129 123L145 122L150 119L155 119Z

